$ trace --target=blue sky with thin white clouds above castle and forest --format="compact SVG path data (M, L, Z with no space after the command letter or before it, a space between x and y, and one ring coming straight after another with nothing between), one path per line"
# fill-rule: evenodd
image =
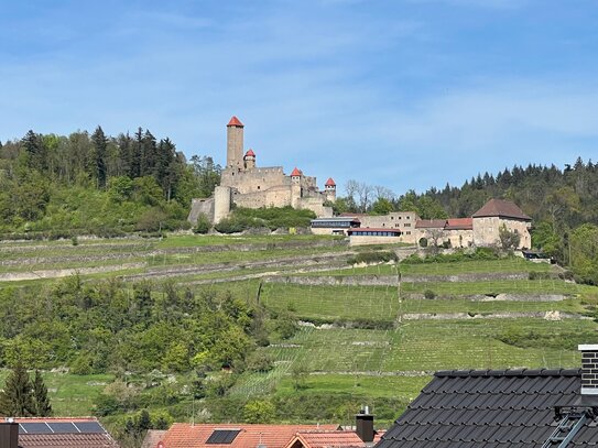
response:
M395 194L598 160L595 0L0 0L0 140L101 124Z

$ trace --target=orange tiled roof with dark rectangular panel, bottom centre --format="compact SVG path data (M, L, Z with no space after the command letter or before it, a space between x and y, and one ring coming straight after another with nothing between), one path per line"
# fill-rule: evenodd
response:
M200 424L191 425L175 423L162 438L164 448L255 448L265 445L268 448L284 448L291 438L301 430L336 429L336 425L239 425L239 424ZM228 444L219 441L218 430L238 430ZM216 431L216 434L215 434Z

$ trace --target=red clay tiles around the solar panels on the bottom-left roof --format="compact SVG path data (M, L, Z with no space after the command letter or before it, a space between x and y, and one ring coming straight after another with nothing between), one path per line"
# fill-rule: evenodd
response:
M14 418L14 423L97 423L95 417L32 417ZM118 448L119 445L108 433L91 434L19 434L19 446L22 448Z

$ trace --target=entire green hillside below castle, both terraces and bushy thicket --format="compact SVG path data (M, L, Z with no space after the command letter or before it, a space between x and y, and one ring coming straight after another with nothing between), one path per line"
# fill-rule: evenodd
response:
M57 413L117 434L145 407L349 422L367 403L388 423L435 370L575 367L596 339L598 288L517 258L354 266L313 236L1 244L3 365L21 353Z

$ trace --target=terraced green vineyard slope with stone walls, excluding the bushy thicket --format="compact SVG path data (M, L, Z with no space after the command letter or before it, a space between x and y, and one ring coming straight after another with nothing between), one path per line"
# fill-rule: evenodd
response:
M555 266L522 259L351 266L354 255L341 240L313 236L3 242L0 287L46 287L73 273L85 282L171 278L291 314L298 331L258 349L274 368L244 372L229 391L246 400L325 393L405 404L436 370L576 367L577 343L597 342L598 288L563 280ZM51 390L61 412L91 412L80 397L68 407L72 375L48 375L62 381ZM95 381L73 376L73 390L97 394Z

